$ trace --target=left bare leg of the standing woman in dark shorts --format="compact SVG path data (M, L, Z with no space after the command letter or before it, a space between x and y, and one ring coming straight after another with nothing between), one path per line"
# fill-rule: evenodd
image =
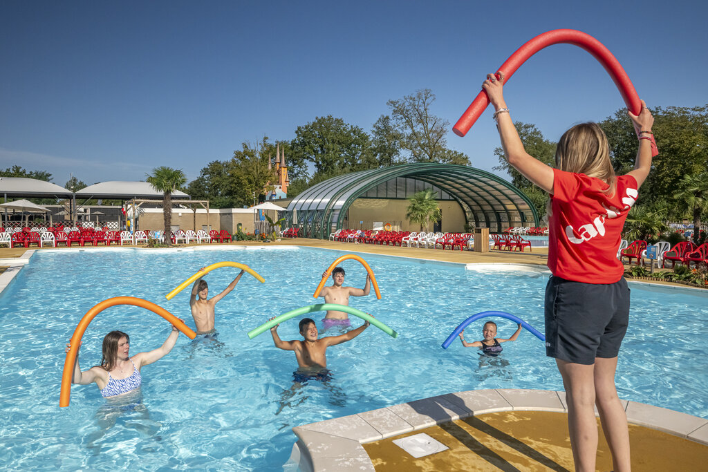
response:
M595 420L595 368L556 359L568 403L568 430L577 472L595 472L598 422Z

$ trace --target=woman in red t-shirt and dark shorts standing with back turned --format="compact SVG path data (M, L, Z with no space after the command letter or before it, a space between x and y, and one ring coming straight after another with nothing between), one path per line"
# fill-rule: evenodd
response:
M634 169L615 176L605 133L596 123L566 131L556 147L556 168L530 156L509 115L504 76L487 74L482 87L506 159L550 195L546 287L546 353L556 359L568 404L568 428L577 471L595 471L597 405L614 470L629 471L627 415L615 388L617 353L629 322L629 289L615 254L627 211L651 167L653 117L642 100L629 113L639 137Z

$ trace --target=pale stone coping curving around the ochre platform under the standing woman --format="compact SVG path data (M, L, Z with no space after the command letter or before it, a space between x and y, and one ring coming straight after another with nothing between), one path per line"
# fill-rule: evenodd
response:
M622 400L622 404L629 424L708 446L707 419L647 403ZM445 393L293 427L298 439L291 459L297 456L299 466L306 471L374 471L362 444L503 411L568 413L564 391L490 388Z

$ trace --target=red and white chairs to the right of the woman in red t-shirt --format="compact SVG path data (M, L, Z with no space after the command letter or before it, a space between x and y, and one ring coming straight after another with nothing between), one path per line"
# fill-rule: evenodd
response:
M632 260L636 259L638 265L644 265L646 259L646 241L636 240L632 243L627 243L627 240L622 240L617 251L617 258L624 262L627 258L627 263L632 264ZM656 262L658 267L665 267L667 262L671 263L673 269L675 264L687 265L691 263L697 265L699 263L708 264L708 243L703 243L701 246L695 246L691 241L681 241L676 243L673 248L666 241L656 243Z

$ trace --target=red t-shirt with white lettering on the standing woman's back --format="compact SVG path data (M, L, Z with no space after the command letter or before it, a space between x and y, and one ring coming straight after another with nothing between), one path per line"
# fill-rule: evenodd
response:
M637 187L632 175L622 175L609 196L603 193L607 184L598 178L553 170L548 248L553 275L588 284L613 284L622 278L617 250Z

